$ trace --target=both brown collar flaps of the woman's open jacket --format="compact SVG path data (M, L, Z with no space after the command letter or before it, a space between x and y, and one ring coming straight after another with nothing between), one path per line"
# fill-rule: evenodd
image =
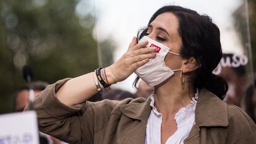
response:
M140 121L148 119L151 111L151 99L148 98L145 101L143 98L139 98L139 100L133 101L134 103L131 101L129 104L121 106L122 114ZM210 91L202 88L199 91L197 106L195 108L195 124L198 127L228 126L227 104Z

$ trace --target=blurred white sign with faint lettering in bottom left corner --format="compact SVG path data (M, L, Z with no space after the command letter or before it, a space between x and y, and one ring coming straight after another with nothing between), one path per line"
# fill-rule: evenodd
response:
M0 144L39 144L35 111L0 115Z

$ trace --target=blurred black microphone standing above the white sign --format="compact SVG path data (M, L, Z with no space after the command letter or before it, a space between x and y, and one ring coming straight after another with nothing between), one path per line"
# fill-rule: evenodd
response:
M33 109L33 101L34 101L34 98L35 98L34 90L33 90L33 87L31 85L31 81L32 81L32 78L33 78L33 72L32 72L32 69L30 68L30 66L23 66L22 73L23 73L24 80L28 84L28 89L29 89L28 101L29 101L29 106L30 106L29 109L32 110Z

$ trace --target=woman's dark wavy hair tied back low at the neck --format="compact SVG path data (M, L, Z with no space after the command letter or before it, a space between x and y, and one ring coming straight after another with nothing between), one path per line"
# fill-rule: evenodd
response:
M228 83L212 73L222 57L219 28L208 15L200 15L196 11L180 6L161 7L152 15L148 25L164 12L171 12L179 19L178 32L182 38L182 48L179 53L182 58L195 57L197 64L200 64L194 73L192 87L206 88L223 100L226 91L228 91ZM147 27L139 30L137 41L146 33ZM134 87L136 87L138 80L139 77L135 79Z

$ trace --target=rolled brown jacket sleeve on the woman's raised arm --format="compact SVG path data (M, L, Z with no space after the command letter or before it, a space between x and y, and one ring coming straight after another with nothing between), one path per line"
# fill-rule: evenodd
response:
M69 78L49 85L33 102L39 130L69 143L93 143L95 111L92 104L66 106L56 98L56 91L67 80Z

